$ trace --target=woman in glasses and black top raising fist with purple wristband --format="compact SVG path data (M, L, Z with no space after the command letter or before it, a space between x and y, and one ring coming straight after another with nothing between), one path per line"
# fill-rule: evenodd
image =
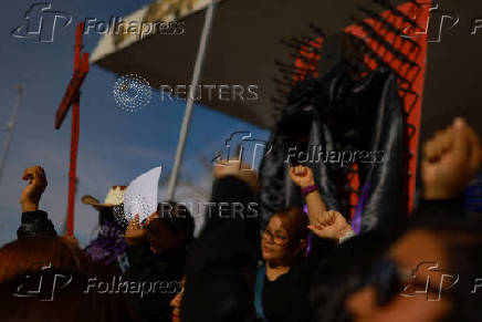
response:
M323 255L317 239L343 241L354 236L339 212L326 211L308 167L292 167L290 176L302 189L308 216L302 209L291 208L273 215L262 231L264 263L256 274L254 304L258 318L270 322L310 320L310 278ZM314 236L307 256L310 230Z

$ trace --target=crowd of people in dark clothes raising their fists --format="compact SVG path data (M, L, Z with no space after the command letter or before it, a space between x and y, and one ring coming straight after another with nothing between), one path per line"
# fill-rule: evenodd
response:
M104 204L86 196L101 229L85 249L39 209L46 175L28 168L18 239L0 249L2 321L479 321L482 220L465 216L463 191L481 142L455 118L420 158L420 201L395 233L356 235L347 214L326 208L312 169L294 165L307 210L262 222L218 207L198 238L182 204L124 226L125 187ZM243 163L213 172L212 205L258 202L258 175Z

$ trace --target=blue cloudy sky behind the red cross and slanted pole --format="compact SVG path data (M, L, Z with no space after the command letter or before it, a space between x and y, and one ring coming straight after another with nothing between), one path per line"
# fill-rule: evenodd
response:
M54 41L41 43L36 38L19 39L10 33L25 23L24 12L35 2L52 3L53 10L73 15L70 27L55 33ZM49 212L57 231L65 221L69 190L69 153L71 113L61 129L54 129L55 111L72 76L75 25L86 17L108 21L112 15L127 15L151 1L144 0L62 0L6 1L0 20L0 144L4 125L15 103L15 86L24 84L24 95L11 142L3 176L0 179L0 245L15 239L20 225L20 194L25 185L23 169L40 165L45 169L49 187L41 209ZM93 52L99 35L84 35L83 51ZM116 105L113 85L119 75L99 66L91 71L82 86L80 143L77 156L77 195L75 236L82 246L95 236L97 214L81 202L92 195L103 200L113 185L128 185L135 177L163 166L159 201L167 197L169 169L178 143L185 102L164 100L153 89L153 98L137 113ZM226 114L196 105L186 145L177 198L203 201L211 185L209 160L223 150L224 142L237 131L251 132L258 139L270 133ZM192 188L195 186L195 188ZM201 190L202 194L198 194Z

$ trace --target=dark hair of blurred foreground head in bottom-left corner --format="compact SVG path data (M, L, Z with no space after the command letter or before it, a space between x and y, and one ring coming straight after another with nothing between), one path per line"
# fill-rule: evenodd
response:
M22 274L0 283L3 322L134 321L123 294L90 289L88 278L77 270L48 269L25 273L28 278ZM40 280L42 287L39 289ZM21 297L28 290L39 291L34 295Z

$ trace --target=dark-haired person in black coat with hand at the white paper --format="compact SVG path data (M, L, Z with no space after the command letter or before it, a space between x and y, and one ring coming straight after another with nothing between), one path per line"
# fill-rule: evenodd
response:
M167 206L167 207L166 207ZM142 321L170 321L170 301L182 291L186 255L193 240L195 222L180 204L163 202L143 225L138 215L126 230L127 278L146 293L130 293L134 313Z

